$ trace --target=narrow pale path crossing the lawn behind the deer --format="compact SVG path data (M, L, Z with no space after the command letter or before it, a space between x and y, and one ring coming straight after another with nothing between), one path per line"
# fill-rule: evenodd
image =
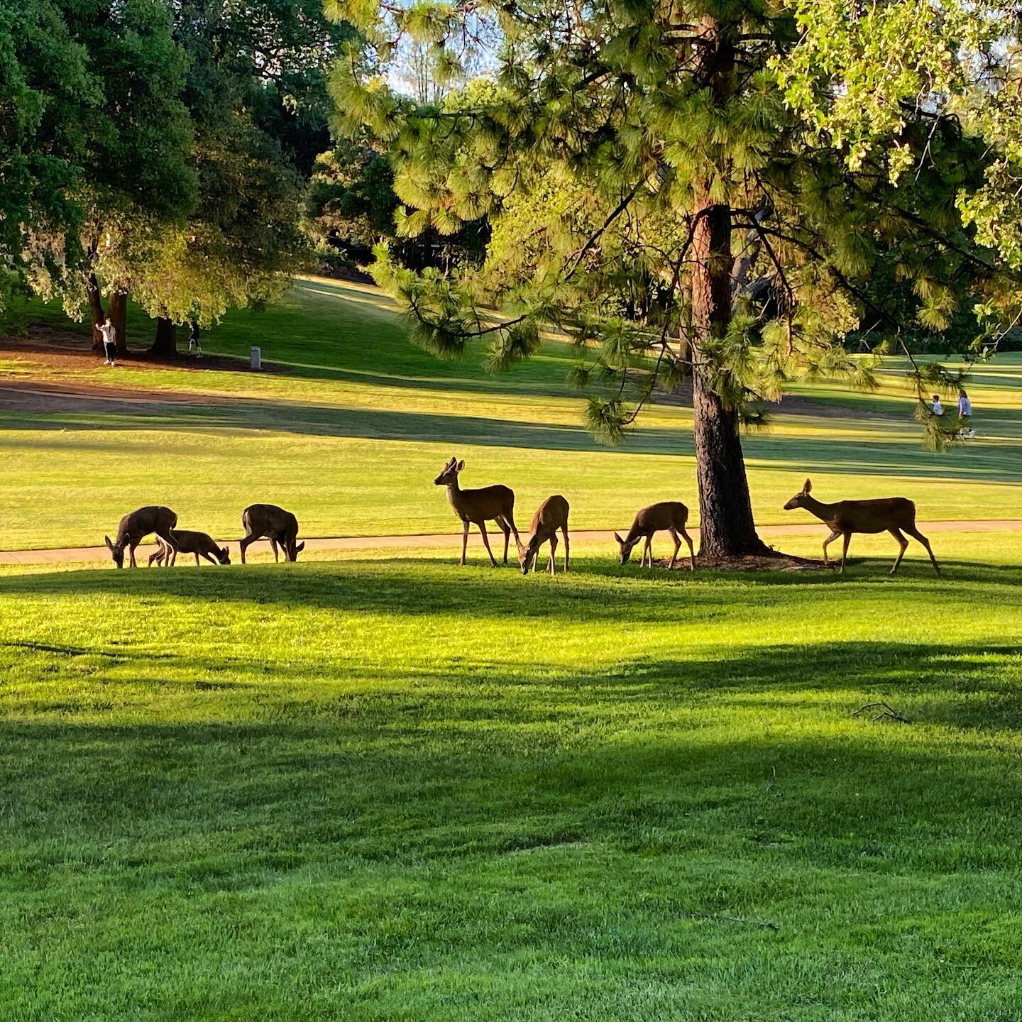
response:
M996 518L990 520L968 521L922 521L919 527L923 532L1008 532L1022 530L1022 518ZM698 532L698 528L692 529ZM820 522L807 521L792 525L760 525L759 535L764 540L773 540L785 536L823 537L825 527ZM576 543L613 543L611 531L579 531L572 532L571 539ZM354 536L354 537L320 537L318 539L301 538L308 551L320 550L380 550L380 549L413 549L413 550L449 550L452 556L458 554L460 535L432 533L428 536ZM666 541L664 541L666 542ZM230 542L231 555L237 559L237 543ZM660 546L662 547L662 543ZM479 546L478 536L473 530L470 549ZM156 548L153 546L139 547L136 559L148 558ZM268 545L261 542L257 550L267 550ZM475 551L484 556L481 547ZM110 556L105 547L64 547L57 550L6 550L0 551L0 564L76 564L93 561L109 563ZM190 561L190 555L184 560ZM144 562L143 562L144 563Z

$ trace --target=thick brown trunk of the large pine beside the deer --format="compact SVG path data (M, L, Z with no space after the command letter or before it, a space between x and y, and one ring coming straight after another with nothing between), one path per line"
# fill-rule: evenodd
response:
M700 22L700 34L715 46L704 58L709 84L718 100L733 86L734 52L711 18ZM723 337L731 323L731 207L713 202L710 184L696 190L691 258L692 288L692 416L699 486L699 554L737 557L765 553L752 520L749 482L739 433L737 410L714 390L713 373L705 364L704 347ZM710 355L710 357L712 357Z

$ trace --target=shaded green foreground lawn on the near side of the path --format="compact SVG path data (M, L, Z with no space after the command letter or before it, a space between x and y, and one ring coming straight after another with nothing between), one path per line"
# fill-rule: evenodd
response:
M3 1017L1017 1019L1022 539L934 546L0 572Z

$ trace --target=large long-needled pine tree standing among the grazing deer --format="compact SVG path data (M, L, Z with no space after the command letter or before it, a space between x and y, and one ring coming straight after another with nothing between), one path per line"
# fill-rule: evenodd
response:
M955 17L928 18L930 7ZM978 355L1018 307L1014 266L983 220L984 189L1004 160L1015 173L1015 156L962 113L996 93L968 71L1002 59L993 12L821 8L825 17L815 0L326 0L364 35L332 88L351 131L368 125L388 141L396 191L414 210L399 229L493 225L485 260L457 273L414 274L379 252L377 279L418 339L456 355L484 338L501 368L536 350L542 326L566 332L579 380L601 391L590 425L611 440L657 387L691 374L704 555L765 553L741 427L762 422L793 378L868 385L869 364L843 346L849 330L882 331L912 358L907 318L941 328L978 308ZM892 21L913 45L898 49L891 32L871 43L856 20L865 8L914 9L911 29ZM387 68L407 39L455 74L483 21L500 39L487 83L435 103L394 95ZM950 73L893 75L889 94L871 93L892 48L910 68L966 68L954 95L940 91ZM864 117L857 91L885 118ZM908 283L897 303L866 286L880 268ZM923 362L913 373L921 393L960 379ZM953 435L925 424L934 446Z

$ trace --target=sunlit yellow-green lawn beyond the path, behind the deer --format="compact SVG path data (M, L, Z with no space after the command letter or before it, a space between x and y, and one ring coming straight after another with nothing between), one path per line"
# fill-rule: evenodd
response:
M64 325L55 311L33 309L31 318ZM130 329L148 327L136 317ZM583 399L565 386L573 357L564 344L548 342L494 377L478 353L446 362L413 346L373 289L320 279L298 281L265 312L229 316L203 342L231 355L258 343L285 371L129 364L61 373L0 351L0 372L22 378L196 396L190 406L118 412L95 402L64 413L0 410L0 547L99 543L121 514L148 503L224 539L240 535L241 509L253 501L292 509L309 536L450 530L456 522L431 481L453 453L466 459L465 485L515 489L521 525L557 492L578 528L626 526L654 500L695 508L689 410L654 407L624 448L600 447L582 427ZM920 450L896 369L877 393L800 388L814 406L746 440L758 520L793 520L781 507L806 474L823 500L901 494L922 518L1018 516L1022 358L979 371L980 436L940 456Z

